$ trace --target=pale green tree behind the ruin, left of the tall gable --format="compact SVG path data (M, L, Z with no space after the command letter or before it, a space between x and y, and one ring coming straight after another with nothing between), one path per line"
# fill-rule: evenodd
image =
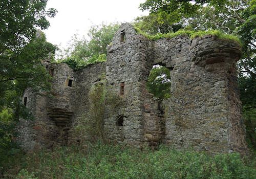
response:
M119 24L92 26L89 30L88 37L78 39L74 35L70 47L66 49L66 62L73 69L82 69L84 66L98 61L106 60L106 47L111 43L115 32L119 29Z

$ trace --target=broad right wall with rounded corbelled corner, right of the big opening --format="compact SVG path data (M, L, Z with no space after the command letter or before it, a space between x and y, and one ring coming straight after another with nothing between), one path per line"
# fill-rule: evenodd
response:
M213 36L194 40L178 36L170 40L165 45L168 52L166 56L156 58L161 58L172 69L172 97L168 102L165 126L166 143L176 148L193 147L196 150L237 150L230 145L228 91L233 91L234 86L228 84L227 74L230 69L234 71L234 64L239 59L239 45ZM156 42L159 50L162 49L159 54L164 54L161 46L166 41ZM237 94L232 95L238 99ZM243 128L240 124L236 127ZM236 135L239 136L237 140L243 143L244 135L239 133Z

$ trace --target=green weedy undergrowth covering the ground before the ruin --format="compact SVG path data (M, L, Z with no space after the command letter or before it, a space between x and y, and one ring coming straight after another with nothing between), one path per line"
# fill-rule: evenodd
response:
M137 149L100 142L28 153L12 161L8 178L255 178L255 160L167 146Z

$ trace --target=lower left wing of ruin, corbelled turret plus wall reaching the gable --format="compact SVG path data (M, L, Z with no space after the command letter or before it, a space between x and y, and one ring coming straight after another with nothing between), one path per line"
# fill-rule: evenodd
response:
M76 72L66 63L46 65L52 75L51 93L26 89L23 95L23 103L27 97L27 108L35 118L20 120L18 126L18 140L26 150L67 144L73 123L88 111L91 86L105 72L104 63Z

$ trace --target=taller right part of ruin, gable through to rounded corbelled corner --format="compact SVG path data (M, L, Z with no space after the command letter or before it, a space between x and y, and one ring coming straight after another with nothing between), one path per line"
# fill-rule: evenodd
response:
M150 145L165 141L176 148L213 152L244 149L234 80L240 53L237 42L211 35L194 40L179 35L154 42L136 34L131 25L123 25L114 37L106 67L108 85L117 93L120 84L125 86L120 114L107 119L113 139ZM165 65L172 76L166 109L145 90L155 64ZM123 126L115 126L120 115Z

